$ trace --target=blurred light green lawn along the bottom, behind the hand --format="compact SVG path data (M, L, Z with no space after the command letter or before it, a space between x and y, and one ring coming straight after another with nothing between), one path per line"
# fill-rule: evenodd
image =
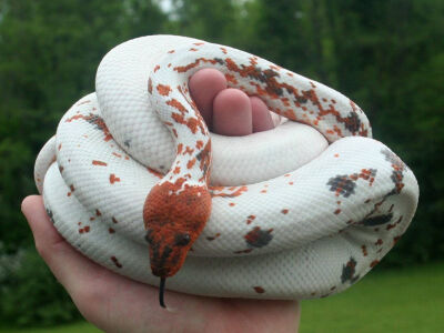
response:
M85 322L0 333L97 333ZM444 263L377 269L339 295L302 301L300 333L444 332Z

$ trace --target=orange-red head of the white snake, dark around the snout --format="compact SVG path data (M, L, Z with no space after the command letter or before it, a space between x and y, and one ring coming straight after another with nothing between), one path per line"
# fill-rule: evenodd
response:
M151 271L169 278L183 265L211 213L206 186L163 182L152 188L143 206Z

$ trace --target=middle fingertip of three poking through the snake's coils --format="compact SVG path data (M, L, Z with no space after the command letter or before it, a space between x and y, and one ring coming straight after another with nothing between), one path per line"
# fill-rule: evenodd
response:
M213 102L213 131L221 135L248 135L253 133L251 102L239 89L225 89Z

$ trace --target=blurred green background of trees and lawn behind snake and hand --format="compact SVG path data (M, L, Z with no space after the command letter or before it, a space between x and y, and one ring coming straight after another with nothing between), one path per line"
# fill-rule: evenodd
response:
M229 44L341 91L420 182L406 234L352 291L303 302L301 332L444 332L441 0L0 0L0 327L80 319L37 255L20 202L37 192L33 162L59 119L94 90L101 58L155 33ZM375 326L383 317L400 325Z

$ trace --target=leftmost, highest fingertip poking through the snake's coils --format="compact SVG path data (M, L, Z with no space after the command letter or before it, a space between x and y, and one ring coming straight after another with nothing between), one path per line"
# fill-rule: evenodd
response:
M190 93L206 127L211 130L214 97L226 88L226 79L215 69L202 69L195 72L189 82Z

